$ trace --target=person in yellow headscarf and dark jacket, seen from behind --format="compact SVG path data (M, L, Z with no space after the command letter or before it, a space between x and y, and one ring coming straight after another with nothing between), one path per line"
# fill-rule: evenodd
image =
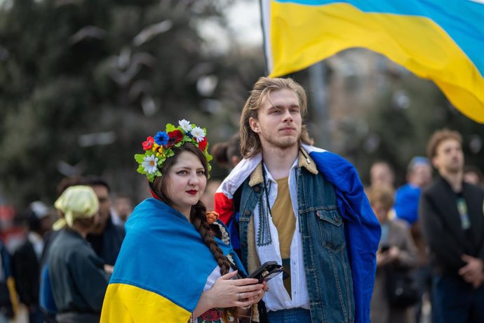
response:
M86 235L96 223L98 197L91 187L68 187L55 201L60 232L52 242L47 266L59 323L99 322L109 274Z

